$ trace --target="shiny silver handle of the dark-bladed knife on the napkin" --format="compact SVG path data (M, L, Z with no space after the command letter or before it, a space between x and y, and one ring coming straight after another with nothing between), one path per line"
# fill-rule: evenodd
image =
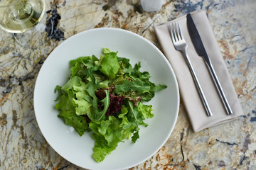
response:
M213 64L211 64L210 60L208 60L206 62L206 65L207 65L208 69L210 70L210 76L213 78L215 86L218 89L218 94L220 95L221 101L225 107L227 114L228 115L233 114L230 104L228 103L228 99L226 98L223 88L220 85L220 81L218 80L217 74L215 73L215 70L213 69Z

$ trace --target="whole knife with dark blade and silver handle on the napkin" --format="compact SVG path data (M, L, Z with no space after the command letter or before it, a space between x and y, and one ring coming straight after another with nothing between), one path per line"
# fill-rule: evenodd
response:
M223 102L223 105L225 107L225 111L227 112L228 115L233 114L233 111L230 108L230 104L228 103L228 100L225 96L223 88L220 85L220 81L218 80L218 77L215 73L213 64L211 64L210 58L208 57L206 49L203 46L203 41L201 40L198 30L196 29L196 25L193 22L193 18L191 14L188 13L186 18L187 18L188 33L191 37L191 41L193 42L193 46L195 47L197 54L200 57L203 57L204 61L206 62L208 70L210 71L210 75L213 78L216 88L218 89L218 94L220 95L221 101Z

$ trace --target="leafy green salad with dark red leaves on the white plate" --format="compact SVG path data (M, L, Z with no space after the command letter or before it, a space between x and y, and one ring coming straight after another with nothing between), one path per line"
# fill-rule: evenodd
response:
M102 162L119 142L139 139L139 126L147 126L144 120L154 116L152 106L143 101L166 88L149 81L149 72L139 70L140 62L132 67L117 52L107 48L102 52L100 59L92 55L71 60L70 79L55 87L58 117L80 136L91 132L96 162Z

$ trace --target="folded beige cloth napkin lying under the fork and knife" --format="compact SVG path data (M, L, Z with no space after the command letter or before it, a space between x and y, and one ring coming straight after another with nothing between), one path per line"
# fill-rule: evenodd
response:
M183 99L184 106L188 113L188 118L191 121L193 131L198 132L205 128L219 125L221 123L228 122L229 120L233 120L233 118L237 118L242 115L242 108L235 93L228 69L218 47L218 43L215 40L213 30L210 27L206 12L201 11L191 13L191 16L196 24L196 28L198 29L201 39L203 40L203 45L206 48L208 57L210 57L213 68L215 69L220 84L223 87L223 91L230 103L230 107L233 111L232 115L228 115L225 112L225 108L221 102L220 96L218 96L218 90L215 88L214 81L210 77L210 72L207 69L206 63L203 61L202 57L197 55L196 50L193 47L193 43L191 42L186 26L186 16L177 18L174 21L178 21L181 26L183 37L188 44L188 57L190 58L196 75L201 83L213 116L207 116L206 110L203 107L203 103L193 81L193 77L191 76L191 72L188 69L186 60L181 52L175 50L171 41L168 25L172 21L161 24L160 26L155 26L155 30L164 54L176 74L181 98Z

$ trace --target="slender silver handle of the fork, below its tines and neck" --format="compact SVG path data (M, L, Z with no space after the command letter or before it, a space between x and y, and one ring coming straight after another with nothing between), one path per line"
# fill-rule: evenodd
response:
M203 89L202 89L202 87L201 87L201 84L200 84L199 81L198 81L198 78L197 78L197 76L196 76L196 72L195 72L194 69L193 69L193 66L192 66L192 64L191 64L191 61L189 60L188 54L187 54L187 52L186 52L186 49L185 49L185 50L182 50L182 52L183 52L183 55L184 55L184 57L185 57L185 59L186 59L186 62L187 62L187 64L188 64L188 67L189 67L189 69L190 69L190 71L191 71L193 80L194 80L194 82L195 82L195 84L196 84L196 88L197 88L198 93L199 93L199 95L200 95L200 97L201 97L201 100L203 101L203 106L204 106L204 108L206 109L206 113L207 113L208 116L212 116L213 113L212 113L211 110L210 110L209 103L208 103L208 101L207 101L207 99L206 99L205 94L203 93Z

